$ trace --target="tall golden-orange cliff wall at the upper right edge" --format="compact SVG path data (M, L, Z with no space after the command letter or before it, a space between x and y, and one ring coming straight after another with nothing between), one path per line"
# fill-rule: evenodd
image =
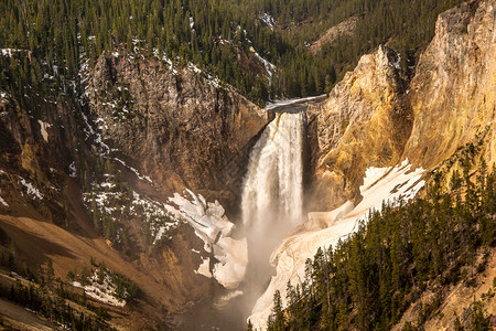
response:
M435 167L488 127L485 158L496 161L495 92L496 1L442 13L410 85L414 122L405 157Z

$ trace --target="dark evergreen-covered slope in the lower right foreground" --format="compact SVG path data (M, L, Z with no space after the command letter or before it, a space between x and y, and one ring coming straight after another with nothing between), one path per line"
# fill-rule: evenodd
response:
M287 307L274 293L268 330L389 330L429 290L434 299L403 327L422 330L450 285L475 285L496 246L496 169L474 161L472 143L460 154L461 170L434 171L423 197L384 205L348 239L306 260L304 281L288 284ZM488 295L495 287L493 279ZM471 330L489 330L481 302L471 309Z

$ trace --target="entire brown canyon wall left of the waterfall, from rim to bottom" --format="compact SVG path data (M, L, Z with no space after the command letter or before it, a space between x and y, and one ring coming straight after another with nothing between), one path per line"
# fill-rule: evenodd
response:
M147 324L163 325L220 288L195 273L203 243L163 203L188 188L235 206L268 118L191 66L111 55L82 76L80 97L0 95L0 228L19 266L50 259L66 279L105 261L138 285Z

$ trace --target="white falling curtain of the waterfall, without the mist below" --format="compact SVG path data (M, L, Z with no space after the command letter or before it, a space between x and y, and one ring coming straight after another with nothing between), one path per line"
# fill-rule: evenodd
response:
M249 233L274 235L302 221L303 124L304 113L277 114L251 150L241 196Z

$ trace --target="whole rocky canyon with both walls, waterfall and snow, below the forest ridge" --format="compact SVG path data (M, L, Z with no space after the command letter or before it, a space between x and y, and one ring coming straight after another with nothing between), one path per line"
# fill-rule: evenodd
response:
M263 109L123 47L80 71L77 98L2 96L0 226L20 265L53 260L65 278L96 258L134 281L139 309L114 307L118 329L209 330L229 305L236 328L263 329L273 292L371 210L421 196L435 173L448 186L467 146L494 167L495 13L494 0L442 13L412 77L379 46L324 100Z

